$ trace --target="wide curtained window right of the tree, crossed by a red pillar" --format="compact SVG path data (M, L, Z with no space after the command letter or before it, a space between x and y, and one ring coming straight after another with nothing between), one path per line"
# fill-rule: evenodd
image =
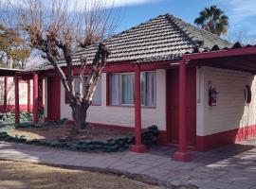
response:
M141 105L155 106L156 79L155 72L142 72L140 75ZM134 105L134 74L113 74L110 76L110 104Z

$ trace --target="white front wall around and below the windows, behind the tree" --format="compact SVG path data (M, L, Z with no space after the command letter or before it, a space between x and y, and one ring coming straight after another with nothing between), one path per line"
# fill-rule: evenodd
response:
M64 86L61 84L61 118L72 120L71 109L64 103ZM156 70L156 107L141 108L142 128L156 125L166 130L166 71ZM106 106L106 74L101 77L101 106L91 106L87 121L106 125L134 127L135 110L131 107Z

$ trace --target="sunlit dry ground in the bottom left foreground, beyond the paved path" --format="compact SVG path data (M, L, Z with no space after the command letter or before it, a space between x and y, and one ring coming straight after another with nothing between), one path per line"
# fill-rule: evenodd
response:
M159 189L127 178L0 160L1 189Z

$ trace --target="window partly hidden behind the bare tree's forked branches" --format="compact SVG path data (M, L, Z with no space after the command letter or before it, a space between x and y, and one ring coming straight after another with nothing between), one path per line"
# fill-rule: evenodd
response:
M86 76L84 77L84 81L86 82ZM85 90L85 83L83 85L83 92ZM79 77L74 77L74 89L75 93L79 92ZM65 93L65 103L68 103L68 94ZM92 104L101 105L101 79L96 87L95 94L93 95Z

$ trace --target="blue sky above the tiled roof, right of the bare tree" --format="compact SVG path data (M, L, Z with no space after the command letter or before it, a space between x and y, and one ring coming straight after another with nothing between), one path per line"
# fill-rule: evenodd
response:
M223 9L229 16L229 36L242 33L256 36L256 0L116 0L121 8L117 32L137 26L160 14L174 16L193 24L199 12L211 5Z

